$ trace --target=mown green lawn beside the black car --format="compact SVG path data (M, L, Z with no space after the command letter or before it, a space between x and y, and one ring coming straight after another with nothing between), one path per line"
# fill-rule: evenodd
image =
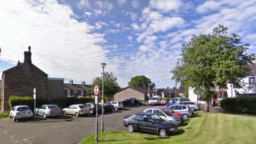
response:
M81 143L94 143L95 134ZM166 138L140 132L108 131L99 133L98 143L255 143L256 118L230 114L197 112L179 133Z

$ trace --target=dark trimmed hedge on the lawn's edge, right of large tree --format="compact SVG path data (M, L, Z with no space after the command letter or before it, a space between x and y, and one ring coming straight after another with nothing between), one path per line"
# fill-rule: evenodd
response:
M220 107L231 113L256 114L256 98L227 98L220 101Z

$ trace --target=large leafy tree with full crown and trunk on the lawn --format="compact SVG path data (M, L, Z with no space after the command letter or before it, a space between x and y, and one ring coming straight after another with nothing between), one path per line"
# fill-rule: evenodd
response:
M227 30L220 24L210 34L193 35L182 46L180 65L171 71L173 79L193 87L206 101L205 112L215 90L227 89L227 83L239 86L239 78L250 73L247 63L254 60L254 54L245 53L249 44L237 34L228 36Z

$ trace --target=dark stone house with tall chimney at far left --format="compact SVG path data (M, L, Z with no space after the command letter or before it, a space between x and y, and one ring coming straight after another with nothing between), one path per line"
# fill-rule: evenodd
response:
M31 61L31 47L24 52L24 62L18 62L17 66L3 71L1 82L1 111L9 111L9 97L11 95L31 96L36 87L38 97L46 97L47 74L33 65Z

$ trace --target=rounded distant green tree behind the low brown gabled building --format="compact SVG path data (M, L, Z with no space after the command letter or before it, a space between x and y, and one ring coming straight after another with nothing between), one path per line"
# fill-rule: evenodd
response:
M144 75L134 76L131 78L130 82L128 82L129 86L142 87L146 89L148 88L148 84L151 89L156 87L155 83L151 82L151 80Z

